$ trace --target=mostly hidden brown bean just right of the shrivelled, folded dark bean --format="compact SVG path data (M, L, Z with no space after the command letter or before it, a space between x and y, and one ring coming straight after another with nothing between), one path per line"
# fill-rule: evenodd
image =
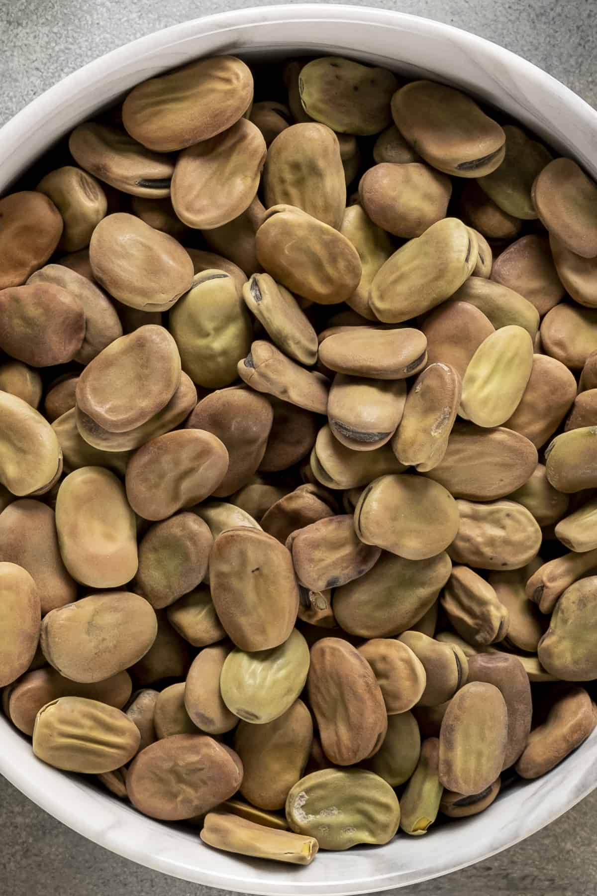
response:
M537 557L521 569L503 573L494 571L488 576L490 586L495 590L499 602L507 608L509 617L507 646L528 653L537 652L537 645L548 627L548 620L526 597L525 592L527 580L541 565L542 560Z

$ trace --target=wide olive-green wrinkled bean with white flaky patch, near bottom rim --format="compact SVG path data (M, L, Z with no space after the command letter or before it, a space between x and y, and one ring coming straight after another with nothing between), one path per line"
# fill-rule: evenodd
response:
M322 769L297 781L286 800L293 831L312 834L320 849L388 843L400 823L394 790L372 771Z

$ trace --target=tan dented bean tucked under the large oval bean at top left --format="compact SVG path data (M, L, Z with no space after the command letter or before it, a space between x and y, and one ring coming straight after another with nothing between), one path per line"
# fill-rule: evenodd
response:
M266 152L259 128L246 118L183 150L172 177L172 204L180 220L210 230L238 218L257 194Z

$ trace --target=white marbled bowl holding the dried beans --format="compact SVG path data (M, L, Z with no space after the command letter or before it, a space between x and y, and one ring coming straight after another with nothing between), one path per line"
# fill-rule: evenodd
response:
M134 84L216 53L259 58L345 54L469 90L516 116L597 176L597 112L520 56L465 31L380 9L286 5L238 10L175 25L102 56L35 99L0 130L0 193L57 138ZM0 718L0 772L56 819L121 856L188 881L290 896L386 890L472 865L539 831L597 784L597 732L550 774L507 789L483 814L398 836L384 847L321 852L283 866L203 846L195 831L152 821L39 762Z

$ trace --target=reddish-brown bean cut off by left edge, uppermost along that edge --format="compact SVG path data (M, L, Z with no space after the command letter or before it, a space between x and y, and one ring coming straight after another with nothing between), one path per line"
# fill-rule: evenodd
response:
M47 262L64 221L54 202L26 190L0 199L0 289L21 286Z

